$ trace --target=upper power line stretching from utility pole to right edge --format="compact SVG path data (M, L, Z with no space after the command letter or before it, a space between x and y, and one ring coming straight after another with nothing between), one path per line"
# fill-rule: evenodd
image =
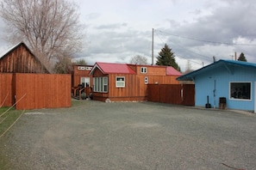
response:
M197 41L207 42L207 43L212 43L212 44L222 44L222 45L232 45L232 46L256 46L254 44L228 43L228 42L217 42L217 41L211 41L211 40L195 39L195 38L176 35L173 33L167 33L167 32L161 31L161 30L155 30L155 31L159 31L159 33L165 33L165 34L168 34L168 35L171 35L174 37L178 37L178 38L182 38L182 39L197 40Z

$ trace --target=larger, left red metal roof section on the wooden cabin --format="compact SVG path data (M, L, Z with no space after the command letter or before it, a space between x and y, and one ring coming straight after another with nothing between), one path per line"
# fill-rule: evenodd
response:
M109 74L109 73L136 74L135 71L128 66L128 64L109 64L109 63L96 63L96 64L104 74Z

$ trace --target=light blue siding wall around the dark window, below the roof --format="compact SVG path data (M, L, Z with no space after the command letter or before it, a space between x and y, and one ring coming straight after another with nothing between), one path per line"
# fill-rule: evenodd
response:
M256 69L246 67L218 67L195 77L196 106L205 106L207 95L212 107L219 106L219 98L226 97L230 109L254 110L254 82ZM251 82L251 100L229 99L230 82ZM215 95L214 95L215 90Z

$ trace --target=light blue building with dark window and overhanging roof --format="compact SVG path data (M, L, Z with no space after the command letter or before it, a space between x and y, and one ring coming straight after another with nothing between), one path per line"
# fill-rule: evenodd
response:
M195 82L195 106L206 106L209 99L210 107L224 102L228 109L256 112L256 64L219 60L177 80Z

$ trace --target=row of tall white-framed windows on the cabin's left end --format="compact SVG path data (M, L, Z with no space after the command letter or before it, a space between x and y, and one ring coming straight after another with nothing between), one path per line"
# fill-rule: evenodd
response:
M93 91L100 93L108 92L108 77L93 77Z

